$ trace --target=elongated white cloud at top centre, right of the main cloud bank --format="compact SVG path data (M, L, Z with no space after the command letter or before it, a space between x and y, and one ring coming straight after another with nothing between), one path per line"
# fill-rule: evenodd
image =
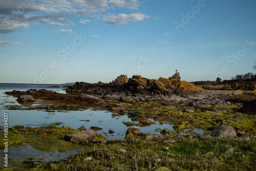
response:
M110 25L123 25L126 24L127 21L131 22L139 22L144 20L145 18L150 18L150 16L144 14L118 14L118 15L106 15L103 17L103 21L106 24Z

